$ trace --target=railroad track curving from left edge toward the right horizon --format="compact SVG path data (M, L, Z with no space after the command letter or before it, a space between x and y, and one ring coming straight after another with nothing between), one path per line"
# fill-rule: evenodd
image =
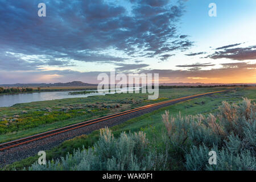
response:
M229 90L231 90L231 89L229 89ZM190 100L192 98L207 96L209 94L214 94L214 93L227 92L229 90L221 90L221 91L217 91L217 92L209 92L209 93L203 93L203 94L196 94L196 95L193 95L193 96L175 98L174 100L158 102L156 104L150 104L150 105L138 107L138 108L135 108L135 109L123 111L121 113L107 115L105 117L92 119L92 120L89 120L89 121L77 123L75 125L69 125L69 126L66 126L66 127L61 127L60 129L47 131L47 132L32 135L32 136L26 137L26 138L20 138L20 139L17 139L17 140L13 140L11 142L1 143L0 144L0 151L8 150L9 148L17 147L17 146L20 146L22 144L34 142L35 140L40 140L40 139L43 139L43 138L51 137L52 135L57 135L57 134L64 133L64 132L67 132L67 131L70 131L70 130L75 130L75 129L78 129L80 127L93 125L94 123L98 123L98 122L101 122L101 121L106 121L106 120L111 119L111 118L120 117L120 116L125 115L125 114L134 113L134 112L139 111L139 110L148 109L150 107L160 106L160 105L168 104L168 103L171 103L171 102L179 102L179 101Z

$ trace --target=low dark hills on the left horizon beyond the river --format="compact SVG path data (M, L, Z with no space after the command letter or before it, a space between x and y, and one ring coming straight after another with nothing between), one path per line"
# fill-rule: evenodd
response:
M15 87L15 86L97 86L97 84L88 84L84 83L81 81L72 81L72 82L67 82L67 83L54 83L54 84L46 84L46 83L41 83L41 84L2 84L0 86L10 86L10 87Z

